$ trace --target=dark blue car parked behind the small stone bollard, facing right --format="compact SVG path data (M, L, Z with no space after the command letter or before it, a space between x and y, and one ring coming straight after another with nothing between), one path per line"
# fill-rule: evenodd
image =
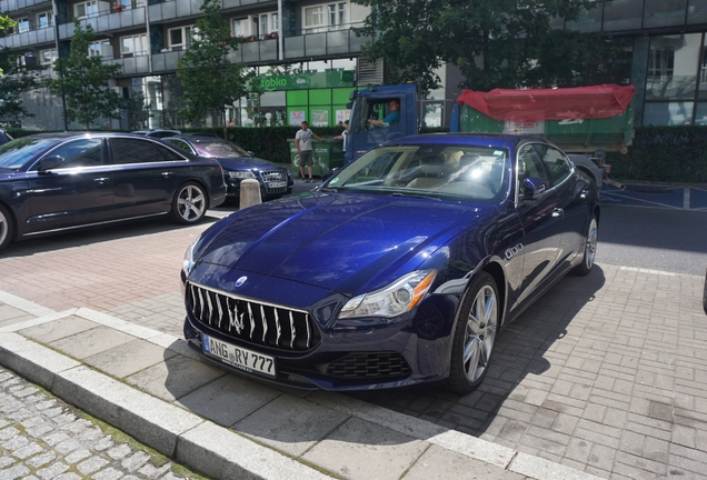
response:
M289 170L268 160L255 158L236 143L212 136L179 136L163 139L191 154L212 158L221 163L228 186L228 197L240 199L240 182L256 179L260 183L263 200L280 198L292 192L295 181Z

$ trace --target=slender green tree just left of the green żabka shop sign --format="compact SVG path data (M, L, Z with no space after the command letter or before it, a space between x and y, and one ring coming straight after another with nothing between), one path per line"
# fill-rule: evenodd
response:
M227 58L241 40L231 38L230 27L221 17L221 2L205 0L201 11L205 17L196 21L191 44L177 62L186 103L180 113L187 121L196 121L209 111L218 112L226 138L227 106L247 93L259 92L260 84L252 69L245 63L231 63Z

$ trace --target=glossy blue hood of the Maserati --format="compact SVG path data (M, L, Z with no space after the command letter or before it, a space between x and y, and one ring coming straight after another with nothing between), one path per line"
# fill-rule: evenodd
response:
M494 211L427 199L305 193L217 223L196 260L354 296L419 268Z

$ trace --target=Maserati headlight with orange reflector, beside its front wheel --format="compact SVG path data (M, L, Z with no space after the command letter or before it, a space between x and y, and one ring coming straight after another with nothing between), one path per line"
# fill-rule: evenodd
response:
M417 270L380 290L354 297L346 302L339 318L390 318L410 311L425 298L436 274L437 270Z

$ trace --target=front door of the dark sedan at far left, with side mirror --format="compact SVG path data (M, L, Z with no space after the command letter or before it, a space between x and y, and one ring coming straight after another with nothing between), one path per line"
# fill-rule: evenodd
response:
M27 231L42 232L111 220L112 167L106 161L102 139L71 140L43 156L63 160L43 172L30 168Z

